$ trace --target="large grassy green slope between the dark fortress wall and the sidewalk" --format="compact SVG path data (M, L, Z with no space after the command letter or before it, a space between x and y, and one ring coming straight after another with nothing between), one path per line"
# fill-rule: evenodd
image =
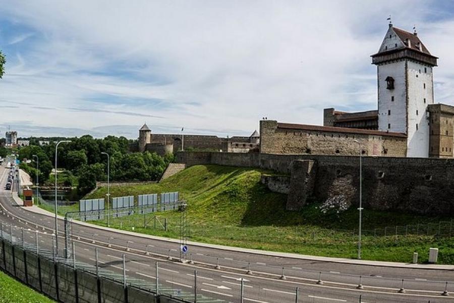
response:
M300 212L285 210L287 195L273 193L260 183L261 173L251 168L193 166L157 184L112 186L113 197L179 191L188 201L190 240L248 248L297 252L300 254L356 258L358 211L323 214L317 203ZM104 197L102 187L86 198ZM156 221L153 216L158 216ZM168 230L162 230L163 219ZM363 229L425 224L442 218L410 214L363 212ZM144 228L144 220L147 227ZM133 215L111 221L112 227L167 237L179 237L179 212ZM159 223L160 222L160 223ZM96 222L105 225L105 222ZM156 226L156 228L154 228ZM439 248L439 261L454 264L454 241L434 236L363 237L363 259L410 262L418 251L420 261L428 259L429 247Z

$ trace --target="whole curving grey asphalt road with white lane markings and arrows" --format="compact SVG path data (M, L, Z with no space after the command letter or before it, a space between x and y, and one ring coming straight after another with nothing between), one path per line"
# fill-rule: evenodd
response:
M34 222L47 234L40 234L39 244L51 250L51 230L53 218L25 211L15 206L11 192L4 190L4 166L0 167L0 204L15 216ZM5 213L5 212L3 212ZM20 227L31 228L25 232L25 239L34 242L35 226L25 225L11 216L0 214L0 221L12 223L13 234L21 237ZM60 231L64 230L62 222ZM38 228L42 231L42 228ZM62 234L63 235L63 234ZM127 275L154 283L155 263L159 262L159 281L166 287L194 291L194 270L198 272L198 293L206 296L238 302L240 280L244 279L245 301L295 302L296 287L299 287L299 302L358 302L360 294L363 302L446 302L452 300L441 296L445 281L454 281L453 271L402 269L392 267L374 267L349 265L333 262L314 262L292 258L255 255L245 252L229 251L202 246L191 246L194 265L178 262L179 244L162 240L147 239L120 234L93 227L73 224L73 236L76 238L76 257L79 262L94 265L94 247L99 249L101 268L122 273L122 255L126 255ZM60 237L59 237L60 238ZM95 240L95 243L92 243ZM59 254L63 256L63 238L60 238ZM111 247L107 247L110 241ZM126 243L130 251L126 251ZM145 256L146 245L150 256ZM174 261L169 262L169 254ZM214 267L219 261L220 269ZM253 275L246 274L250 263ZM281 280L282 267L287 280ZM324 285L317 285L319 272L322 272ZM356 289L360 283L364 289ZM405 294L397 293L404 279ZM454 284L454 283L453 283ZM454 292L454 285L448 284L448 291Z

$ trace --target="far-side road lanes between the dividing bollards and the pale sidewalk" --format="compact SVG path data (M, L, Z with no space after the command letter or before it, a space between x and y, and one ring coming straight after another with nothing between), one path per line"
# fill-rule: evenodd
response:
M0 175L1 175L1 173L0 173ZM2 187L2 189L3 189L3 187ZM27 211L22 210L21 208L12 206L11 198L9 198L8 195L3 195L2 196L2 205L4 205L6 208L8 208L12 213L15 213L15 214L19 213L21 217L28 218L30 221L38 220L40 224L48 226L50 228L53 228L52 218L49 218L49 217L46 217L46 216L42 216L42 215L39 215L39 214L32 214L32 213L29 213ZM63 230L63 225L61 226L61 230ZM77 233L77 231L79 231L80 233ZM143 238L140 238L140 237L120 235L120 234L116 234L116 233L112 233L112 232L108 232L108 231L100 231L100 230L93 229L93 228L87 228L85 226L78 226L77 231L76 231L75 234L81 234L82 236L89 237L89 238L91 238L91 236L93 234L97 234L95 236L95 239L97 239L97 240L104 239L105 242L107 241L107 239L109 237L113 237L114 239L111 239L111 242L112 243L117 243L118 246L123 246L123 247L126 245L126 241L127 240L131 240L131 241L133 241L133 243L130 243L130 246L133 247L133 248L135 248L135 247L140 248L140 250L142 250L142 252L144 252L144 250L145 250L145 244L150 244L150 243L153 243L153 244L151 244L151 245L154 246L154 247L152 247L153 250L159 250L160 252L166 252L168 249L172 249L172 248L168 248L168 247L173 247L173 249L178 249L178 244L175 244L175 243L168 243L166 241L149 240L149 239L143 239ZM63 241L60 241L60 242L61 242L61 244L63 243ZM205 252L204 254L203 254L203 252L193 252L193 256L194 256L194 253L195 253L196 256L198 256L198 258L200 258L200 261L198 259L194 258L195 261L206 263L205 259L208 258L207 256L213 256L212 255L213 251L215 251L216 255L220 256L219 258L222 258L222 256L229 256L229 257L223 257L222 258L221 265L222 265L223 269L224 269L224 266L230 266L230 265L231 265L232 268L238 268L239 267L237 261L231 260L231 259L234 259L234 258L231 258L231 256L235 254L235 253L233 253L231 251L221 251L219 249L212 249L212 248L205 249L203 247L193 247L192 250ZM236 257L237 260L242 260L243 259L243 261L246 261L246 260L248 260L246 258L250 258L249 260L258 262L257 259L260 259L260 261L265 261L264 259L267 259L268 261L267 261L267 265L266 266L263 265L263 264L260 264L260 267L263 267L265 269L269 267L269 264L273 264L273 263L277 264L276 265L276 269L273 272L276 275L279 274L279 273L276 273L276 270L278 270L277 266L280 266L282 264L285 264L285 266L294 265L293 267L301 266L299 268L303 268L304 265L308 265L309 264L310 266L316 266L317 270L320 270L320 267L323 268L323 266L327 266L326 263L323 263L323 262L322 263L320 263L320 262L308 262L306 260L302 261L302 260L298 260L298 259L273 258L273 257L269 257L269 256L256 256L256 255L244 254L244 253L240 253L239 255L240 255L239 257ZM246 259L246 260L244 260L244 259ZM224 265L225 264L224 262L226 263L226 265ZM198 262L196 262L196 263L198 263ZM260 262L260 263L265 263L265 262ZM213 263L211 263L211 264L213 264ZM329 275L326 274L327 278L324 279L324 280L326 280L326 281L327 280L335 280L335 279L331 279L331 276L334 277L334 278L337 276L337 277L341 278L341 280L343 282L346 282L345 281L345 277L344 276L341 277L337 273L337 272L341 272L341 271L338 268L333 267L332 265L338 266L338 264L334 264L334 263L328 262L328 266L330 266L330 269L336 269L337 271L331 270L332 273L328 272ZM180 264L179 264L179 266L180 266ZM241 270L243 272L244 272L246 266L247 266L247 264L243 264L243 266L241 266ZM341 267L346 267L347 269L350 268L350 266L345 265L345 264L341 264ZM359 268L361 268L361 270L364 270L364 268L373 268L373 269L375 269L374 267L364 267L364 266L353 266L353 267L359 267ZM292 271L295 271L295 276L298 276L298 274L301 272L301 270L299 268L292 269ZM383 270L383 271L386 270L386 268L378 268L378 269L379 270ZM393 269L393 270L400 272L401 277L402 277L402 269ZM266 272L266 270L265 270L265 272ZM417 280L415 280L415 289L424 289L423 285L426 285L427 283L422 281L422 280L423 279L429 279L429 277L426 275L426 273L429 274L429 275L434 275L435 277L437 276L437 274L438 274L438 277L440 277L440 273L442 273L442 275L443 275L443 276L441 276L442 279L439 279L439 280L445 280L446 279L446 277L444 276L445 273L451 274L450 272L445 272L445 271L412 270L410 272L413 272L413 273L410 273L410 275L409 275L412 278L408 278L408 279L417 279ZM415 277L415 273L418 274L419 276ZM289 275L289 273L287 273L287 274ZM292 275L293 275L293 273L292 273ZM421 277L421 275L422 275L422 277ZM421 277L421 278L418 278L418 277ZM352 277L352 279L350 281L350 284L354 285L355 283L358 283L357 281L354 281L355 279L357 280L358 277ZM365 279L365 278L363 277L363 279ZM276 279L274 279L274 280L276 280ZM374 281L378 281L378 279L376 279ZM393 281L393 282L395 282L395 281ZM407 283L407 281L406 281L406 283ZM363 282L363 284L366 285L366 283L364 283L364 282ZM381 286L381 285L378 285L378 286ZM423 287L421 287L421 286L423 286ZM398 286L395 286L395 285L393 285L392 287L398 288ZM271 289L271 288L269 288L269 289Z

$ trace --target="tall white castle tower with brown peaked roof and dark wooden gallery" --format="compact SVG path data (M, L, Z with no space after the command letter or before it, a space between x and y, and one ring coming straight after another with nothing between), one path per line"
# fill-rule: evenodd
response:
M414 33L389 24L372 64L378 74L378 129L406 133L407 157L429 156L429 113L433 104L432 56Z

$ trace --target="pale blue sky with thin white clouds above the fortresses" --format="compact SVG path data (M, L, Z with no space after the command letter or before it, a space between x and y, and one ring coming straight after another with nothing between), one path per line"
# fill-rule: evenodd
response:
M432 55L454 105L451 1L0 0L0 132L136 138L250 135L262 117L322 124L377 107L376 53L392 23Z

